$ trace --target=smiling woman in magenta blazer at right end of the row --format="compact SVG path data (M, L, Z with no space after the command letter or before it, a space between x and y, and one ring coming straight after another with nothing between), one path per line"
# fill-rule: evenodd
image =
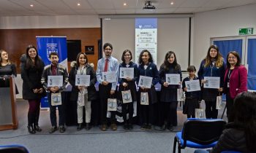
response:
M241 65L238 52L232 51L227 54L227 68L224 78L227 106L227 119L230 120L230 114L233 111L233 100L238 93L247 90L247 70Z

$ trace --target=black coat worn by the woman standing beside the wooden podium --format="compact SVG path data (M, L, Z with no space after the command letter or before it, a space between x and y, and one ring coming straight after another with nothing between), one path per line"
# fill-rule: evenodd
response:
M40 99L45 96L45 90L42 94L34 93L33 89L43 88L41 83L42 71L44 69L45 63L39 58L39 66L26 68L26 55L22 55L20 58L20 74L23 79L22 85L22 95L23 99L34 100Z

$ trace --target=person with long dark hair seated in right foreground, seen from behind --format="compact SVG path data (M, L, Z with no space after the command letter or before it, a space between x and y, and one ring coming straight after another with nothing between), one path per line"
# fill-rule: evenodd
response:
M209 152L256 152L256 93L239 93L234 99L229 123ZM196 153L208 152L196 150Z

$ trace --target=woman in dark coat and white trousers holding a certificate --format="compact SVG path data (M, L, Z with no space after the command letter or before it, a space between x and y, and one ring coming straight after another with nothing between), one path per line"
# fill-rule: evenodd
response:
M89 86L80 85L78 77L76 75L89 75ZM70 101L76 101L78 103L78 130L82 129L83 123L83 107L86 109L86 130L90 130L91 122L91 101L96 99L96 75L94 68L89 65L88 58L84 52L80 52L76 59L75 66L72 67L69 72L69 83L72 85L72 93ZM88 83L88 82L87 82Z

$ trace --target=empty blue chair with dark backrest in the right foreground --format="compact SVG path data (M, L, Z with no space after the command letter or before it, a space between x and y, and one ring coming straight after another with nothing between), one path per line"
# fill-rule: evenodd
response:
M182 131L176 133L173 153L176 152L177 142L178 153L186 147L206 149L215 146L226 124L223 119L188 119Z

